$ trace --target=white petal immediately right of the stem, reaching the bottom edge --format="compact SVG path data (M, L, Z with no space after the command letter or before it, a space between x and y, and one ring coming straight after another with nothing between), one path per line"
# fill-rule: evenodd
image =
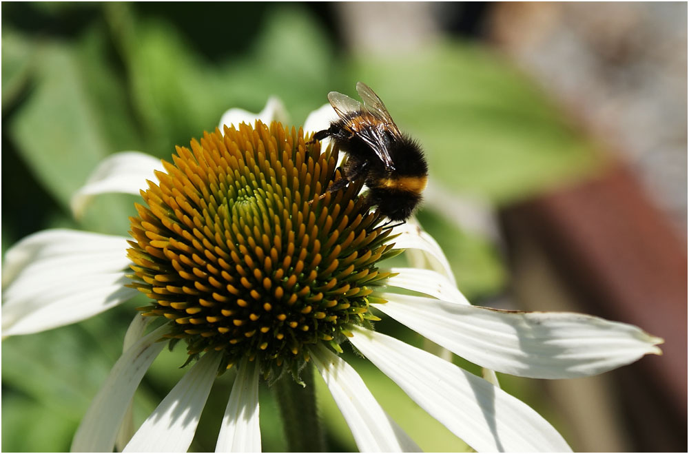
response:
M322 345L311 349L311 358L345 417L360 452L421 451L385 413L364 380L347 362Z

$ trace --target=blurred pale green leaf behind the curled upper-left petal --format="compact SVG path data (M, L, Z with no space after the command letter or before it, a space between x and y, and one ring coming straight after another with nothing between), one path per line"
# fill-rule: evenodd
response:
M50 43L37 59L30 97L10 120L10 135L21 158L65 208L96 165L114 151L102 132L101 110L86 90L81 63L66 45ZM127 211L103 207L83 225L98 231L127 231Z

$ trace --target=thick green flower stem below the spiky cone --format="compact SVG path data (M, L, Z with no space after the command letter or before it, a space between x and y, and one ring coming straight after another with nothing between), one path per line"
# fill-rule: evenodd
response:
M306 386L296 383L291 375L286 373L273 386L280 405L288 451L325 452L325 437L316 406L313 364L307 363L301 372L301 379Z

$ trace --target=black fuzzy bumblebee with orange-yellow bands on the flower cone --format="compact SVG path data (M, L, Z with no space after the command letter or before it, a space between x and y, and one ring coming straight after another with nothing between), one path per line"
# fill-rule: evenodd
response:
M347 154L347 161L340 167L342 178L327 192L363 178L369 187L367 202L377 206L391 222L404 223L421 202L428 181L426 158L420 145L400 132L368 85L358 82L356 91L363 104L345 94L330 92L328 101L339 118L327 130L313 134L313 141L329 137Z

